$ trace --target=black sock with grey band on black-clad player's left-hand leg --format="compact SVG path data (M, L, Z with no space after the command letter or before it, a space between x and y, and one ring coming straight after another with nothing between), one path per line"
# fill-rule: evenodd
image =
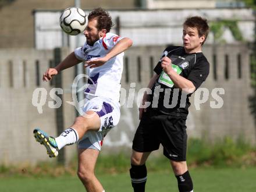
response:
M145 164L131 165L130 176L134 192L144 192L147 182L147 168Z

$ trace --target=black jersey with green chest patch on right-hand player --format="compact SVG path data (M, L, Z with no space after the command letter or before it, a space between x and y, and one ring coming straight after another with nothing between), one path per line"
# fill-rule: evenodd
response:
M162 58L163 56L168 56L172 60L173 69L180 76L190 80L196 89L200 87L209 74L209 62L202 52L186 54L183 47L170 46L163 51ZM151 95L150 99L151 107L162 113L186 118L189 113L191 94L186 95L175 87L169 76L163 72L160 61L155 66L154 71L160 76L152 87L154 94ZM161 88L162 91L157 91L157 88ZM157 105L156 101L158 101Z

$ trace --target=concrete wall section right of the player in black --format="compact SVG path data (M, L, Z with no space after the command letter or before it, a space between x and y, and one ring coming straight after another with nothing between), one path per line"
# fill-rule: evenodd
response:
M205 55L211 63L210 74L201 87L209 88L209 100L202 105L201 110L195 110L191 105L188 128L191 136L214 139L223 136L237 138L245 136L248 141L255 143L255 125L253 116L248 108L248 96L253 92L250 87L250 51L246 45L223 45L216 49L216 77L214 78L214 47L205 47ZM229 60L229 77L225 77L225 56ZM241 70L239 77L239 59L241 59ZM211 90L221 87L225 90L223 106L220 109L212 109ZM191 102L193 104L193 100ZM198 134L199 133L199 134Z

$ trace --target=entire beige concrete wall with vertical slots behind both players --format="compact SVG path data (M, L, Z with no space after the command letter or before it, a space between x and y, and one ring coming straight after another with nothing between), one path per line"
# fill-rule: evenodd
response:
M125 88L128 95L131 91L130 83L136 83L135 99L132 102L126 97L125 101L122 101L120 123L104 139L103 153L130 150L134 131L138 126L136 99L139 95L137 91L147 86L152 67L157 63L164 48L133 47L125 53L122 88ZM190 115L187 119L189 136L214 140L223 136L236 138L243 135L248 141L255 143L253 116L248 109L248 96L252 93L248 48L244 44L218 45L216 48L206 45L204 52L211 63L211 71L207 81L201 87L208 88L209 99L200 105L200 110L196 110L195 105L198 103L194 102L195 94L192 95ZM216 52L217 79L214 79L212 56L214 52ZM62 49L62 58L67 54L67 49ZM241 56L240 79L237 76L237 55L239 54ZM229 79L225 79L225 55L229 57ZM35 163L49 160L44 147L35 142L33 129L40 127L52 136L56 136L56 109L48 106L48 101L54 101L49 96L49 91L54 87L41 81L42 73L53 59L54 54L51 50L0 50L0 120L2 122L0 163ZM138 61L140 61L141 70L138 70ZM39 74L37 74L37 66L39 66ZM74 106L66 102L72 101L74 69L65 70L62 74L64 125L68 127L75 117ZM37 85L38 82L39 85ZM47 90L47 102L42 107L41 114L31 101L34 90L38 87ZM210 104L211 101L216 101L211 96L212 90L216 87L225 90L225 95L219 95L223 99L223 106L220 109L211 108ZM127 102L129 105L133 104L133 107L127 108ZM66 147L67 159L73 157L75 153L75 145ZM51 161L55 160L51 159Z

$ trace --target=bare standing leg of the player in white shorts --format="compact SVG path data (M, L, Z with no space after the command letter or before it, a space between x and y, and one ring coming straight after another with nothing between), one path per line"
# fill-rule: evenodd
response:
M88 192L104 191L101 183L99 183L99 180L94 175L94 168L98 155L98 150L90 148L79 149L77 175Z

